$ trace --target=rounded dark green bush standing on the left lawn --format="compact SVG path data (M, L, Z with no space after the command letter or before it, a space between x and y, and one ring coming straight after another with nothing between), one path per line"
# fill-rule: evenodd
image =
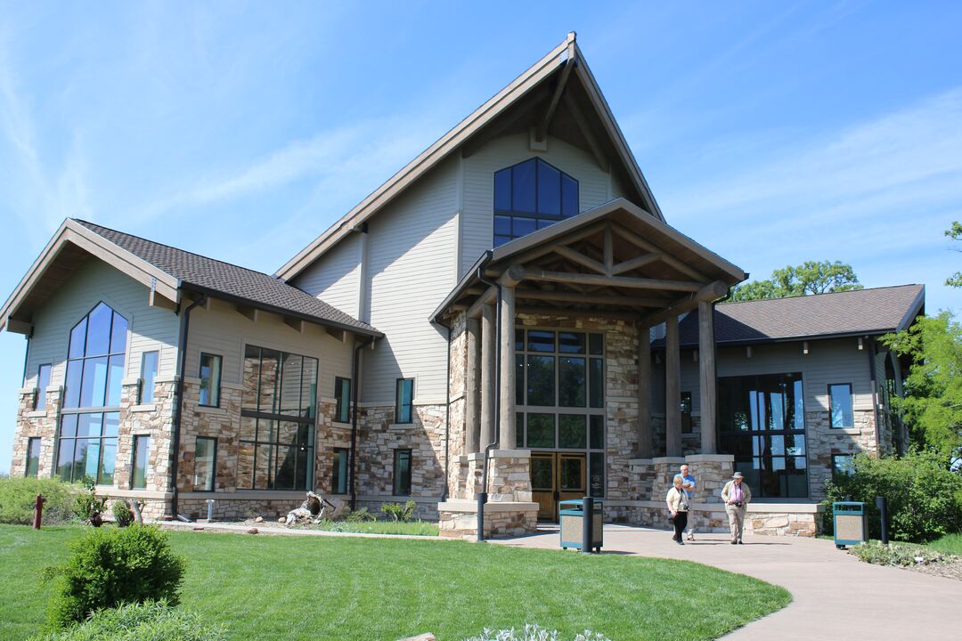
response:
M48 617L54 628L86 619L103 607L165 599L178 603L187 561L170 550L167 535L156 527L91 530L67 544L73 556L48 568L56 577Z

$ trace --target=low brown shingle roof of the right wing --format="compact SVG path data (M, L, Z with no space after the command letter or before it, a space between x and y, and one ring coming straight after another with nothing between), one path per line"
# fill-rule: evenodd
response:
M900 332L923 312L924 303L922 284L722 303L715 308L715 340L730 345ZM678 331L681 345L697 345L697 312L686 316Z

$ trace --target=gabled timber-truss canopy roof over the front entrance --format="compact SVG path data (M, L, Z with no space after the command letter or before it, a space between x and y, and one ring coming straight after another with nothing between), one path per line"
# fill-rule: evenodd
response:
M650 327L722 298L745 272L638 206L616 199L487 252L432 314L494 302L484 281L514 286L516 311L630 315ZM483 281L482 281L483 279Z

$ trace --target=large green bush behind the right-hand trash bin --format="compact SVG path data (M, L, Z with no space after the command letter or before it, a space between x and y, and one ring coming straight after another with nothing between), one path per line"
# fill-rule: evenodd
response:
M866 504L869 533L881 538L875 497L884 496L889 507L889 537L924 543L943 534L962 531L962 474L949 470L932 452L906 456L855 456L855 473L836 476L826 485L825 531L832 531L833 501Z

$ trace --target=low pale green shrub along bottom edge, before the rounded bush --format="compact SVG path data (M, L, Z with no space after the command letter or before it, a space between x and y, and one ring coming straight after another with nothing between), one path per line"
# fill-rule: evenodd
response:
M170 607L164 601L121 604L97 610L88 621L32 641L224 641L222 626L204 622L198 614Z

